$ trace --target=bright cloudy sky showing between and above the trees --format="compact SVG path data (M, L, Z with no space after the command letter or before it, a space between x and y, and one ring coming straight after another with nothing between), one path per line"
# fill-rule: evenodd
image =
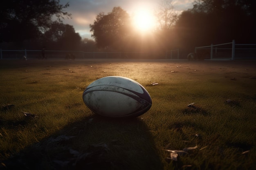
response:
M134 22L137 23L138 30L147 31L153 26L153 18L150 16L161 0L60 0L63 5L67 2L70 7L65 11L72 14L72 19L65 19L63 23L73 25L82 38L92 39L89 24L93 24L100 12L107 14L114 7L121 7L129 15L136 16ZM193 0L173 0L173 5L175 10L182 11L192 8L192 2Z

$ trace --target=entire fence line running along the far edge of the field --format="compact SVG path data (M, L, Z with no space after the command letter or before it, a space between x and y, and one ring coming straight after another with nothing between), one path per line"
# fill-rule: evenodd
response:
M200 51L201 50L201 51ZM256 44L236 44L235 40L223 44L195 47L197 55L201 52L210 60L256 59ZM200 54L200 55L201 55ZM45 51L48 59L181 59L180 50L174 49L165 53L149 52L84 52L84 51ZM0 59L40 59L41 50L3 50L0 49ZM71 58L71 59L74 59Z

